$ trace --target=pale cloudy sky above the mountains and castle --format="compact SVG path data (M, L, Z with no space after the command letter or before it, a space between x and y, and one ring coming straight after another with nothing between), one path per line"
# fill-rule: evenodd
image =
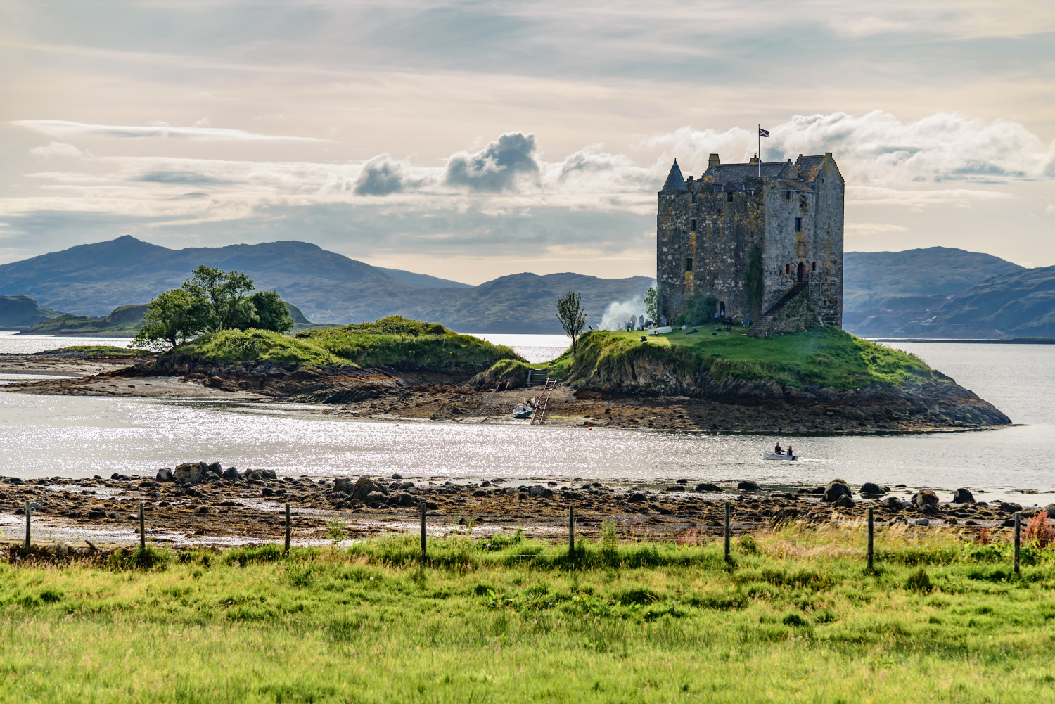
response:
M5 0L0 263L305 240L654 274L671 159L835 153L846 248L1055 264L1055 4Z

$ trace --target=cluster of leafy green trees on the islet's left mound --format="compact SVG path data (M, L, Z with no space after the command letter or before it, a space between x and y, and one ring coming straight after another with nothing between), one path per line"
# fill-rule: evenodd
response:
M275 291L253 290L253 280L238 271L202 265L179 288L147 304L146 324L135 335L137 345L175 347L202 332L256 328L288 332L289 308Z

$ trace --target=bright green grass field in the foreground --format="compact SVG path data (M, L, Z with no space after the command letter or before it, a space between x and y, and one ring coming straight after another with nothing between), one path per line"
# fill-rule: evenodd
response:
M690 536L691 538L691 536ZM1025 702L1055 555L788 528L720 545L410 538L0 566L13 702Z

